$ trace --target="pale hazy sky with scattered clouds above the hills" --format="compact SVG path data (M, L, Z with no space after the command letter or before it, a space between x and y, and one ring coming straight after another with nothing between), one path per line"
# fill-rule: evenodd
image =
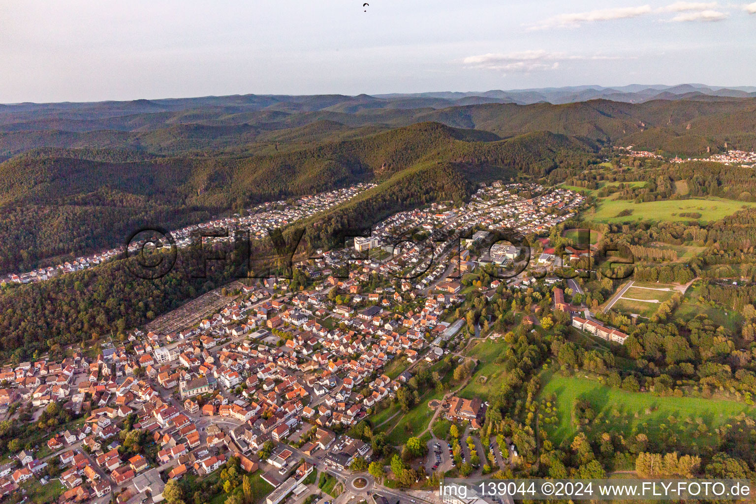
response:
M756 85L756 2L0 0L0 103Z

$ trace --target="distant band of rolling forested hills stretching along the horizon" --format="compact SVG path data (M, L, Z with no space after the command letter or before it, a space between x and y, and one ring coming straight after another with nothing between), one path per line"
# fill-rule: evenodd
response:
M216 156L218 151L274 154L418 122L476 129L500 138L550 131L605 146L636 144L686 155L705 152L706 147L720 150L725 141L730 147L751 148L756 134L754 97L696 95L637 104L590 100L528 105L418 99L402 100L401 107L370 97L328 98L259 104L253 100L253 105L229 102L223 107L197 100L195 108L181 110L166 104L92 105L76 111L55 108L63 104L44 110L5 107L0 112L0 159L37 147L192 156Z

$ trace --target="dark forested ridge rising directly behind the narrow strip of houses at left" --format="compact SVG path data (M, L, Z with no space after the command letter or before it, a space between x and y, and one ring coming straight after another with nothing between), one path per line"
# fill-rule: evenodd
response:
M23 271L116 246L145 224L181 227L262 201L388 181L427 162L545 175L560 164L590 162L592 147L548 132L500 140L486 131L419 123L255 156L32 150L0 163L0 271ZM474 169L460 173L480 176ZM486 174L500 176L495 170ZM408 176L422 176L432 185L427 173ZM434 197L460 194L439 190Z

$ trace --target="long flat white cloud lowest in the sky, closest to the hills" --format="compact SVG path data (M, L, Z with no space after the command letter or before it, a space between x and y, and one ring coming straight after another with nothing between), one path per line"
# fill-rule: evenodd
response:
M543 49L510 53L488 53L468 56L463 63L468 68L479 70L499 70L513 73L531 73L544 70L556 70L560 63L570 60L619 60L617 56L581 56L548 52Z

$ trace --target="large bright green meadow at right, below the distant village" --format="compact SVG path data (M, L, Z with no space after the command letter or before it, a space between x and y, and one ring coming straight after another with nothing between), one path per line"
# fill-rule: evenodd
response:
M603 223L618 223L631 221L717 221L732 215L746 206L756 206L756 203L744 203L729 199L679 199L667 201L652 201L648 203L634 203L628 199L601 199L596 212L584 215L589 221ZM631 215L618 217L623 210L632 210ZM701 214L699 219L680 215L685 212Z

